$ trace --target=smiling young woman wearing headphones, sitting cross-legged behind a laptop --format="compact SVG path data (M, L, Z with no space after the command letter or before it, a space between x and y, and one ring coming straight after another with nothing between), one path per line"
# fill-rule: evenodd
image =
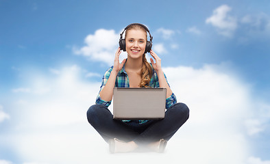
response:
M145 25L133 23L125 28L125 39L119 41L114 66L103 76L96 105L87 111L88 122L109 143L110 152L132 152L147 147L164 152L167 141L188 120L189 109L177 103L167 78L161 68L161 59L151 50L152 37ZM123 32L124 32L123 31ZM150 42L147 41L147 32ZM127 59L119 63L121 50L127 51ZM147 62L145 53L151 58ZM112 101L114 87L164 87L167 88L166 113L162 120L113 120L108 106Z

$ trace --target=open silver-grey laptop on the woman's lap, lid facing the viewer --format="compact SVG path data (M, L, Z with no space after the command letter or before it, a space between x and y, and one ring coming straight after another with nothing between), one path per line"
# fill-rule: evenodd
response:
M114 87L113 118L156 120L165 115L166 88Z

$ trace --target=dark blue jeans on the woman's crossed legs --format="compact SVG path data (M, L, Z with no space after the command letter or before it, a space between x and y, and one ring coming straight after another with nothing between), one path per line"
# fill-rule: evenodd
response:
M138 145L166 139L169 141L176 131L188 120L189 109L184 103L177 103L167 109L162 120L149 120L139 124L138 120L122 122L112 119L112 113L104 105L93 105L87 111L88 122L108 142L117 138L134 141Z

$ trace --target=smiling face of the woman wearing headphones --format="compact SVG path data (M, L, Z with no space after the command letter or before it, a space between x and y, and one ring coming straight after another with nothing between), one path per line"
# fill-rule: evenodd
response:
M142 57L145 53L147 33L143 29L130 29L125 35L125 50L132 58Z

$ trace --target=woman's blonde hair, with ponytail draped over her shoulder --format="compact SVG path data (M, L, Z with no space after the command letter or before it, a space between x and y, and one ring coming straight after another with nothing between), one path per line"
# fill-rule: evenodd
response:
M126 29L125 31L125 35L127 35L127 31L129 31L130 29L141 29L143 31L145 31L146 34L146 40L147 40L147 31L144 27L140 26L140 25L131 25L128 29ZM151 80L153 74L153 68L151 67L151 65L149 64L149 62L147 61L146 57L145 57L145 53L143 54L143 67L140 70L140 84L138 85L139 87L149 87L149 82Z

